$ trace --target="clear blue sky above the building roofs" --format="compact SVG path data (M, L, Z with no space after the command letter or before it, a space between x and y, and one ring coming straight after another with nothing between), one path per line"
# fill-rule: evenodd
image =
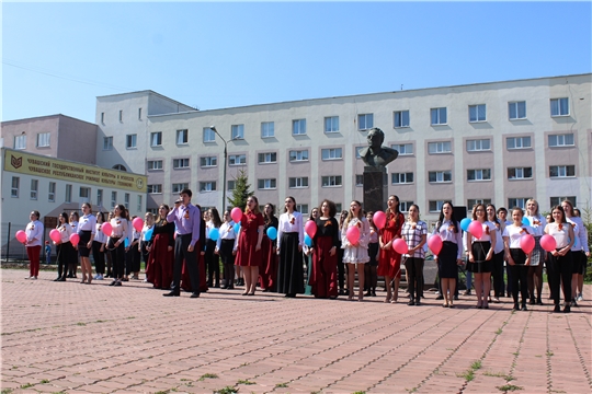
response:
M152 90L198 109L589 73L580 2L14 2L0 119L94 123Z

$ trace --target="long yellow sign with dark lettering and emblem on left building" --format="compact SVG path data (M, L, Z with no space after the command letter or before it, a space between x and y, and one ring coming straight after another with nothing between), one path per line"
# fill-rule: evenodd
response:
M146 175L68 162L11 149L5 149L4 152L4 171L146 193Z

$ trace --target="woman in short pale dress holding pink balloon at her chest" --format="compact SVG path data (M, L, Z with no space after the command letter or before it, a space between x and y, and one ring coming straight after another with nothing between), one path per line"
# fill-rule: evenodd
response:
M348 239L348 230L357 228L360 236L355 242ZM348 218L343 222L341 230L341 244L343 252L343 263L348 264L348 290L350 294L348 300L353 300L355 268L357 266L357 301L364 300L364 264L369 262L368 256L369 224L362 212L362 202L353 200L350 204Z

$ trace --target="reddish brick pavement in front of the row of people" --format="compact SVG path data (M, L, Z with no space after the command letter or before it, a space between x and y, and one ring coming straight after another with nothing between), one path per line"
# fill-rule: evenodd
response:
M2 269L3 393L590 393L591 308L441 308ZM546 290L546 289L545 289ZM379 293L380 296L380 293ZM592 286L584 289L592 298ZM399 300L405 300L400 293Z

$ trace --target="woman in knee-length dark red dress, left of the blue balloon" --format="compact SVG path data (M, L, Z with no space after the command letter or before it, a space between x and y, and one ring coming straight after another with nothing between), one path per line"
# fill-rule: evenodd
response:
M261 242L265 222L259 211L259 200L255 196L247 199L247 208L240 220L237 265L243 267L244 292L242 296L254 296L261 264Z

